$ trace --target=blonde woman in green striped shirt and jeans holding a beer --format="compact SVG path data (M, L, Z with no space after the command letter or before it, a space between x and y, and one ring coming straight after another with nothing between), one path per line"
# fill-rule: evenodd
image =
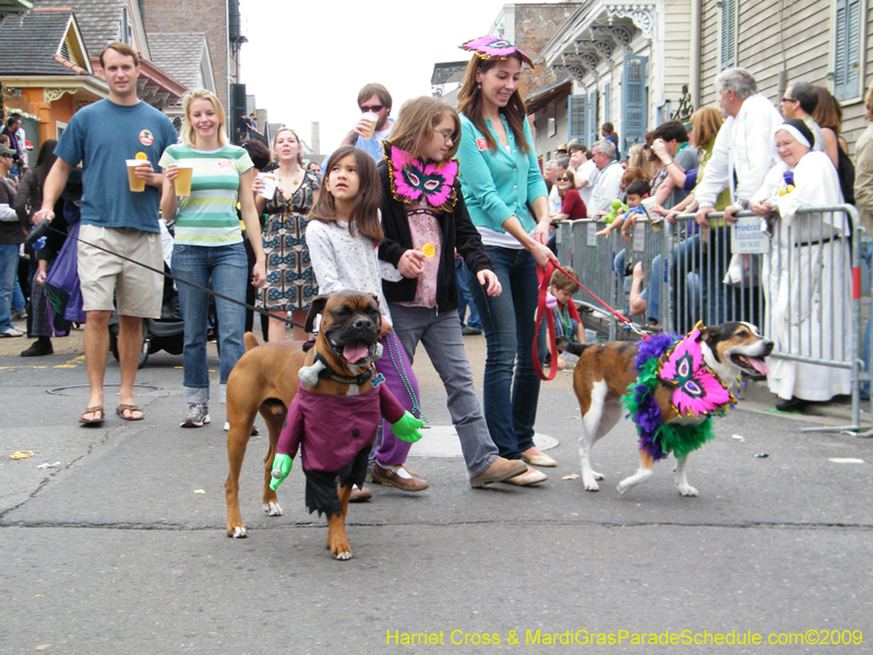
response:
M243 301L249 281L237 200L255 255L251 284L260 288L265 282L261 226L251 193L254 168L246 150L227 142L225 111L213 93L192 91L184 96L182 107L181 143L168 147L160 158L166 172L162 213L165 221L177 219L172 273ZM177 203L177 183L180 187L183 183L179 169L189 166L193 168L191 191ZM181 427L199 428L210 422L206 361L210 297L186 284L178 284L177 288L184 320L182 364L187 406ZM242 343L246 309L222 298L215 299L215 306L222 361L219 402L224 404L227 377L246 352Z

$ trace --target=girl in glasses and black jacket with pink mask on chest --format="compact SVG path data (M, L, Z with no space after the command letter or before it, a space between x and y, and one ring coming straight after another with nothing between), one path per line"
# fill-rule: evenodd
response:
M457 112L439 98L422 96L400 109L378 167L385 233L379 257L382 289L394 320L394 332L386 340L388 355L399 348L411 364L419 342L424 345L449 394L470 484L481 487L525 473L527 466L498 456L464 349L455 253L464 258L483 294L497 297L501 285L457 180L457 159L452 156L459 133ZM386 437L387 430L375 453L372 478L403 489L410 485L400 478L408 475L402 464L410 444Z

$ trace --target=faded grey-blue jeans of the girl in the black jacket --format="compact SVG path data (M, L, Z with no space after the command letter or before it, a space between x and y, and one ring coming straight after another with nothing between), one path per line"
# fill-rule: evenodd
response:
M410 362L419 342L424 344L428 357L445 386L446 405L461 440L467 474L475 478L497 460L498 448L488 432L473 386L473 372L461 336L461 322L451 311L438 313L435 309L427 307L395 303L391 303L390 308L394 331Z

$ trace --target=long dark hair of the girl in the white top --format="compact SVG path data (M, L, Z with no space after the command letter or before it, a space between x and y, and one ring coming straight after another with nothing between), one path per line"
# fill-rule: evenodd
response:
M355 156L360 184L358 196L355 199L348 217L348 229L352 235L357 233L379 243L384 236L382 224L379 221L379 207L382 205L382 184L379 181L379 171L375 169L375 162L367 154L367 151L354 145L338 147L327 159L322 190L319 193L319 200L309 212L309 219L322 223L336 222L336 205L334 196L327 190L327 183L331 179L331 170L348 155Z

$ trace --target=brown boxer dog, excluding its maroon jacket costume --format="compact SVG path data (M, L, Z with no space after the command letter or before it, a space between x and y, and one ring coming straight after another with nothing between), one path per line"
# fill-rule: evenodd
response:
M315 346L303 353L300 342L276 342L259 346L252 333L246 333L247 353L239 359L227 380L227 457L230 472L225 483L227 497L227 536L247 536L239 511L239 474L246 446L260 412L270 430L270 450L264 457L264 512L280 516L276 492L270 488L276 444L288 407L297 393L298 379L330 395L354 395L372 389L369 381L355 384L344 378L363 376L373 360L379 358L378 340L382 319L373 296L344 290L332 296L319 296L312 301L307 318L307 332L311 332L315 317L321 313L321 327ZM255 347L256 346L256 347ZM334 374L319 376L313 367L315 355L326 361ZM346 356L352 357L348 361ZM321 365L321 362L319 362ZM309 367L303 368L301 367ZM307 378L304 379L304 376ZM336 559L348 559L351 550L345 533L345 516L351 487L339 488L342 516L328 519L327 547Z

